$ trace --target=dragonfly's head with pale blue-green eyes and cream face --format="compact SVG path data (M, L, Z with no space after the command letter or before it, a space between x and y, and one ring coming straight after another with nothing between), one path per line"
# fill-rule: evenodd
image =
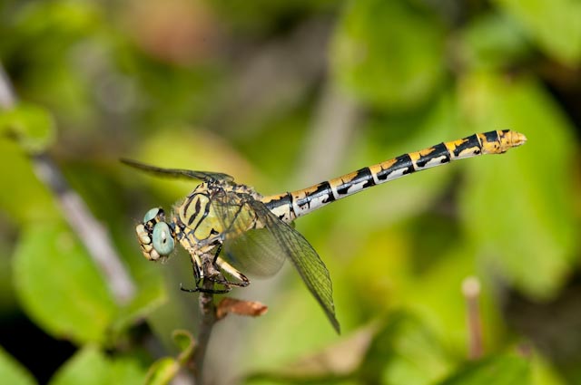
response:
M155 207L145 213L143 223L135 227L142 253L150 261L167 259L175 246L175 233L165 222L165 212Z

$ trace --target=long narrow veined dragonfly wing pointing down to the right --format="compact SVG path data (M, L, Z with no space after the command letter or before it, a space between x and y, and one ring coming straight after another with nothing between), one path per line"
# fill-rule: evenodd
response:
M252 200L249 206L265 226L264 230L267 230L271 238L276 241L277 249L291 260L335 330L340 332L340 325L335 316L330 274L315 249L304 236L272 214L262 202Z

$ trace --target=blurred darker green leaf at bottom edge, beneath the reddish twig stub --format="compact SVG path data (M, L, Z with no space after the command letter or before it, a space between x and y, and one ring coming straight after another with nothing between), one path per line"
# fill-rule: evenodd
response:
M526 385L530 362L514 353L504 353L470 362L440 385Z

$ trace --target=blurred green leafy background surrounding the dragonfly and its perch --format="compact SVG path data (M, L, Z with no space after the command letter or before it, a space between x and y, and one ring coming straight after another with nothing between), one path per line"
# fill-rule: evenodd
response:
M195 183L119 158L269 195L508 128L527 144L300 218L342 334L287 264L230 294L269 312L216 325L208 383L581 383L578 1L3 0L0 63L5 383L143 383L176 363L172 331L195 336L188 256L148 263L134 236ZM110 237L124 288L39 178L46 161Z

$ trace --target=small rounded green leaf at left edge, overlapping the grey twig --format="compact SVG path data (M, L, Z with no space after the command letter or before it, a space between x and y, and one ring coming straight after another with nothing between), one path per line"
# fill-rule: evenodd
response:
M20 103L0 111L0 133L14 137L27 153L39 153L54 143L54 120L43 108Z

